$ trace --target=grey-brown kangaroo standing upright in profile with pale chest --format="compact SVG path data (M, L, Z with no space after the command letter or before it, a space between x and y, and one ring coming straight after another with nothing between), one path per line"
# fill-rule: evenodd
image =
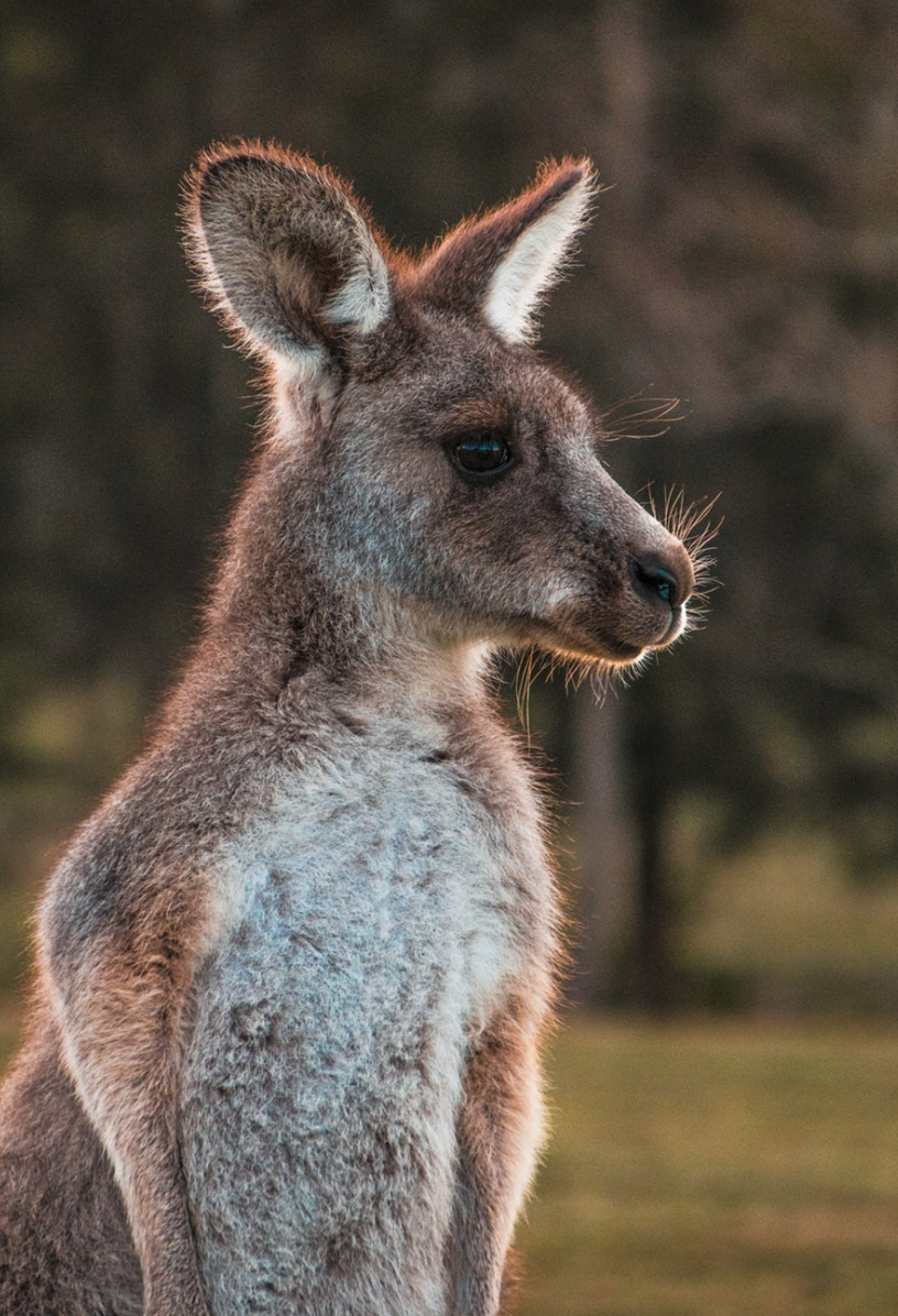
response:
M589 162L394 250L212 149L188 246L267 421L201 634L38 915L0 1104L5 1316L494 1316L558 905L498 649L636 663L694 566L533 350Z

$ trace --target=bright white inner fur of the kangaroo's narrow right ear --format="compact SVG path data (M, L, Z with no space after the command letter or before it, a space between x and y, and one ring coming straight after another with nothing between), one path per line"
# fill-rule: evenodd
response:
M532 341L535 315L565 271L574 238L589 217L593 193L593 179L585 175L524 229L494 270L483 316L504 338Z

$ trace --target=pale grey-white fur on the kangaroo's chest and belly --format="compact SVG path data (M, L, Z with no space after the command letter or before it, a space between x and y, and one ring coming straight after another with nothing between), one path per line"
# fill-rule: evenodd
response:
M525 800L496 812L438 755L357 754L284 782L221 869L228 926L182 1088L216 1311L309 1300L348 1233L403 1283L417 1257L432 1283L466 1050L545 975L550 887Z

